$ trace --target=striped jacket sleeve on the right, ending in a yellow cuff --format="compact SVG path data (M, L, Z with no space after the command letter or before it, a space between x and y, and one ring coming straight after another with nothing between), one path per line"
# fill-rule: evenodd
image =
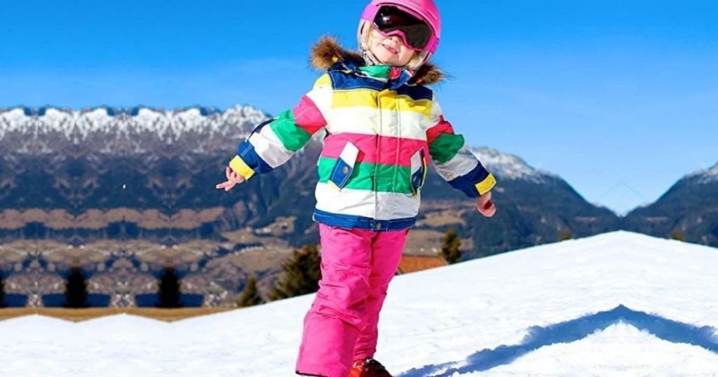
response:
M470 151L464 136L454 133L436 101L432 106L432 124L426 130L426 141L439 175L468 197L479 197L489 192L496 185L495 177Z

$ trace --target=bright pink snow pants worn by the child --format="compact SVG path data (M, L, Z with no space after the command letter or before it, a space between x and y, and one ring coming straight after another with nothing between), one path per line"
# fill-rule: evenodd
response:
M319 225L322 279L304 317L298 373L347 377L354 360L376 352L379 311L404 251L403 231Z

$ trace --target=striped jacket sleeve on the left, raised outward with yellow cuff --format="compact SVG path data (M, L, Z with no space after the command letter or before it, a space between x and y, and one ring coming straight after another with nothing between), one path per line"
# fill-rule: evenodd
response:
M322 75L297 106L256 126L237 148L229 166L246 180L287 162L294 153L327 125L325 114L331 106L332 84Z

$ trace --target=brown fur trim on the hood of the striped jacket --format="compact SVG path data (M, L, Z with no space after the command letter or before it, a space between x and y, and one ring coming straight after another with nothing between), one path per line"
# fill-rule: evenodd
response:
M312 47L310 62L317 70L328 70L337 62L353 61L364 65L364 58L359 52L345 50L335 37L324 36ZM446 75L436 65L426 62L414 73L409 83L432 85L444 80Z

